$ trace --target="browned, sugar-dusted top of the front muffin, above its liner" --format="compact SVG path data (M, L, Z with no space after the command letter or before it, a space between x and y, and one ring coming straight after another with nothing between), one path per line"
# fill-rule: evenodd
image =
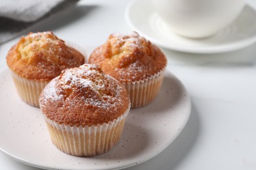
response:
M81 65L62 71L40 95L40 108L58 124L108 124L129 109L125 87L103 73L98 65Z

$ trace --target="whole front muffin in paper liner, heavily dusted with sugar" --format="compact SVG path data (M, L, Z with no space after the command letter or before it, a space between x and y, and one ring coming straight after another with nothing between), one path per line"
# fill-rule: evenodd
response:
M63 71L39 101L53 144L74 156L95 156L116 146L130 109L123 84L89 64Z

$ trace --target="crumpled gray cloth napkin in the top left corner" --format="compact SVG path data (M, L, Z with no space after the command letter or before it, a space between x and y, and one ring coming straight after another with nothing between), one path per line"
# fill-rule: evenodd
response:
M78 0L0 0L0 44L30 31Z

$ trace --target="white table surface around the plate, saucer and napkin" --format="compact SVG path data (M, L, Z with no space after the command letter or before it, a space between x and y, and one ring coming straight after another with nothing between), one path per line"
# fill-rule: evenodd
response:
M131 33L125 22L128 0L80 1L36 25L31 31L53 31L81 46L98 46L114 32ZM256 9L256 1L250 0ZM19 38L0 46L5 56ZM256 43L223 54L185 54L163 49L168 69L192 99L188 124L158 156L127 169L256 169ZM0 169L38 169L0 152Z

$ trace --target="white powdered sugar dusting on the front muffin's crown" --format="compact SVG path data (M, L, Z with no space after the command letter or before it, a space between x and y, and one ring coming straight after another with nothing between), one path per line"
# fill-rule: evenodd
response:
M81 65L66 69L43 90L41 105L47 102L69 102L70 107L83 105L117 110L122 104L125 88L114 78L105 75L97 65Z

